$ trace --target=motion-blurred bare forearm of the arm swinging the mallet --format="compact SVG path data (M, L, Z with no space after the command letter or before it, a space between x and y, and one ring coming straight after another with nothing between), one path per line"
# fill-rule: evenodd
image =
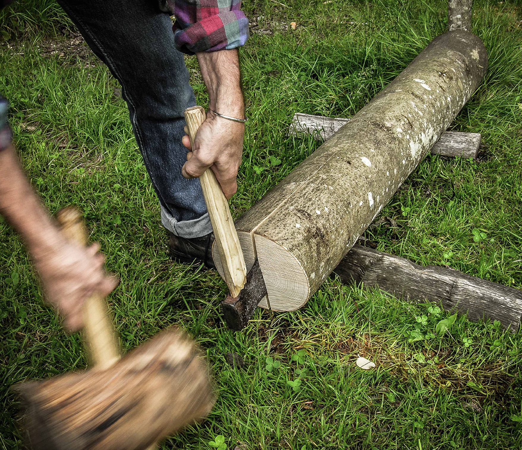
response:
M34 258L44 257L61 240L20 167L13 145L0 152L0 214L20 234Z

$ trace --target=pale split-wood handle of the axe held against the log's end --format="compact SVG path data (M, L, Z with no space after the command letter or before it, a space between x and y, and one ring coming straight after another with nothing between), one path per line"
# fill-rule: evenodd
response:
M188 127L188 136L194 145L194 137L198 128L205 122L205 110L201 106L193 106L185 110L185 121ZM221 190L212 169L208 168L199 177L208 215L218 246L219 258L223 267L225 281L232 297L238 297L246 281L246 266L243 250L239 243L238 232L230 214L227 197Z

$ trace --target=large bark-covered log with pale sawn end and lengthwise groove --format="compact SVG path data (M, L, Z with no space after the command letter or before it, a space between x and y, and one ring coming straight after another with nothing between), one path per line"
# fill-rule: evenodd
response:
M260 305L292 311L306 303L452 123L487 64L475 35L435 38L239 219L247 270L257 257L267 288Z

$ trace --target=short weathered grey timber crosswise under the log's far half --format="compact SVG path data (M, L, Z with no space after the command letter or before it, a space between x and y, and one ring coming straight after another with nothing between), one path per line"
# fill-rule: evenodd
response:
M328 140L350 119L295 113L290 123L290 136L312 136L316 140ZM480 148L480 133L446 131L431 148L432 155L477 158Z

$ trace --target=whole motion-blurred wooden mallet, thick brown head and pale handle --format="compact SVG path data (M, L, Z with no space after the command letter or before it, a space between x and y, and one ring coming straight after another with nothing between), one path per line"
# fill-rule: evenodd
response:
M85 245L80 214L58 215L69 238ZM105 300L86 302L84 336L95 366L14 386L26 399L34 450L146 450L204 417L215 401L208 365L176 329L120 359Z

